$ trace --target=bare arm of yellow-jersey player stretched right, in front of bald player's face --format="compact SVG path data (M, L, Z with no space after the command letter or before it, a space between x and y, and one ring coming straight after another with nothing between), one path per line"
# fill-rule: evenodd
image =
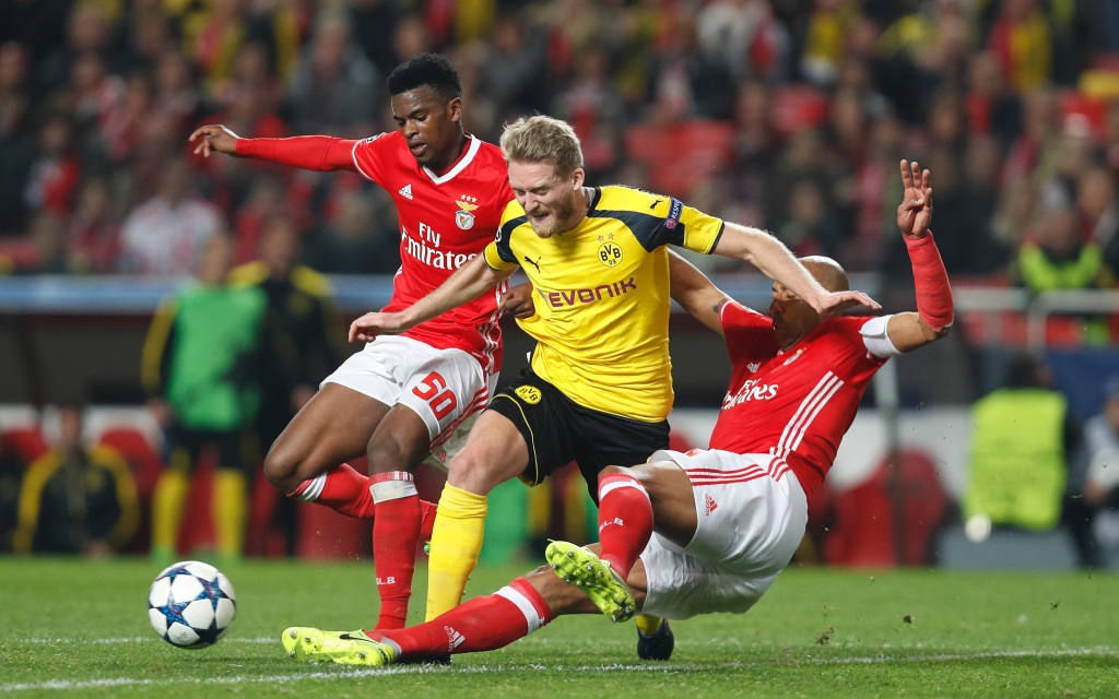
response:
M723 235L712 251L725 257L736 257L754 265L762 274L800 296L824 317L849 308L850 302L872 309L882 306L861 291L828 292L797 262L783 243L759 228L727 221Z

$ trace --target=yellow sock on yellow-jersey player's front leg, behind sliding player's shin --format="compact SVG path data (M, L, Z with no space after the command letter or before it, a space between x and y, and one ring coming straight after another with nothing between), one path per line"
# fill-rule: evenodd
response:
M462 601L486 533L486 495L448 483L439 499L427 561L427 617L450 612Z

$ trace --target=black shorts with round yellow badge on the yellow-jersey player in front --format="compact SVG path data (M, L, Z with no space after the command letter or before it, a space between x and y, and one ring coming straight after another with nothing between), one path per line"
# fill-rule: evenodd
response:
M668 421L646 423L581 406L528 368L499 388L487 409L513 421L528 444L521 481L536 485L574 461L595 502L600 471L642 464L668 448Z

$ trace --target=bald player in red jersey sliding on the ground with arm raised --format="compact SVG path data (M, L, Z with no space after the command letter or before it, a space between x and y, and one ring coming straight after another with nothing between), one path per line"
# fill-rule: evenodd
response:
M916 285L915 313L822 318L780 283L769 315L727 297L698 270L671 259L673 297L726 339L732 377L707 450L659 451L599 478L600 544L553 542L548 568L517 578L401 631L289 629L299 660L384 665L501 648L562 614L637 611L639 653L667 659L666 618L743 613L788 565L819 487L874 372L891 357L948 333L952 296L929 232L929 171L901 162L897 207ZM802 264L831 292L847 289L834 261ZM573 583L573 584L566 584ZM643 650L642 650L643 649Z

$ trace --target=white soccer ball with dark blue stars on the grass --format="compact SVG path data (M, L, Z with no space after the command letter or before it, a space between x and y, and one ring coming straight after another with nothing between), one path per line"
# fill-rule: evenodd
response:
M206 563L177 563L156 576L148 591L148 618L159 637L176 648L214 645L236 613L229 578Z

